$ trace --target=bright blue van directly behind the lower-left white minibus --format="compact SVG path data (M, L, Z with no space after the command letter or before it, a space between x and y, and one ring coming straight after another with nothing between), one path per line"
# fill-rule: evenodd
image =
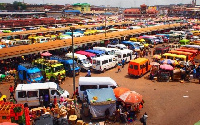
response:
M19 80L23 83L41 83L41 70L30 63L20 63L17 68Z

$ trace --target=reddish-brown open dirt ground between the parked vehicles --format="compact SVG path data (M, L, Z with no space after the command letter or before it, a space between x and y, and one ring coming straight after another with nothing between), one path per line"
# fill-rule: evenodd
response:
M200 120L200 84L198 80L191 82L156 82L148 80L147 73L142 78L131 78L128 76L128 64L117 73L117 68L110 69L105 73L93 73L92 76L111 77L121 87L127 87L140 93L145 100L144 108L138 119L147 112L149 118L148 125L193 125ZM79 77L84 77L85 73L80 73L75 78L78 86ZM3 94L9 95L10 83L2 83L0 90ZM73 79L67 77L63 89L73 93ZM140 125L139 121L132 123Z

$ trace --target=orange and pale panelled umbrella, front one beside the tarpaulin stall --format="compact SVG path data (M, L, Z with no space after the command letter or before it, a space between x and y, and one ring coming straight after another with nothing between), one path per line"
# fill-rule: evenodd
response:
M135 91L127 91L119 97L125 103L139 103L142 102L142 95Z

